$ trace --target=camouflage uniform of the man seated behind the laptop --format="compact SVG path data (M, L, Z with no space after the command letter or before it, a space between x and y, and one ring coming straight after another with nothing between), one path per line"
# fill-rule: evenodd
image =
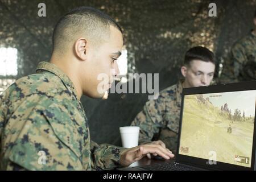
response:
M176 150L179 130L182 81L159 93L156 100L146 102L131 126L139 126L139 143L162 140L166 147Z

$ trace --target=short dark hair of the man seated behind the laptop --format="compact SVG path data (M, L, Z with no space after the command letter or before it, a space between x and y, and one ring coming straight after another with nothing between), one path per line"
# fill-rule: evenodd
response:
M184 59L184 65L189 66L191 61L193 60L200 60L205 62L211 62L215 64L215 56L212 51L210 51L208 48L197 46L190 48L185 53L185 59Z

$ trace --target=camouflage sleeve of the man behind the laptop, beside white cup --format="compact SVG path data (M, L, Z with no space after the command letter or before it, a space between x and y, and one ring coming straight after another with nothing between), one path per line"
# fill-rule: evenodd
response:
M160 128L164 126L164 113L166 104L162 96L157 100L146 102L143 110L131 122L131 126L139 126L139 143L151 142L155 134L158 134Z

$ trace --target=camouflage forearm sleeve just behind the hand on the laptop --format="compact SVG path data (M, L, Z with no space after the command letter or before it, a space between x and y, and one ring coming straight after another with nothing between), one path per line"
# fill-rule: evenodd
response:
M91 140L90 151L92 155L92 168L114 169L121 167L120 156L126 148L110 144L97 144Z

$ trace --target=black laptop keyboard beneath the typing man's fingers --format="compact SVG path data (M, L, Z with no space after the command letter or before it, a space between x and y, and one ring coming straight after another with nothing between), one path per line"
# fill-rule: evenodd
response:
M194 168L185 167L178 163L154 164L150 166L139 167L146 171L195 171Z

